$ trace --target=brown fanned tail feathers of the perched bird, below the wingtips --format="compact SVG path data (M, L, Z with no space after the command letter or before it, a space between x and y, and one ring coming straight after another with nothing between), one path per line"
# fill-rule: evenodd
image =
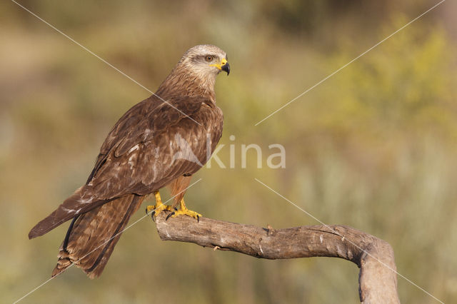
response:
M118 198L82 214L74 222L66 246L59 249L59 260L52 276L74 263L89 278L101 275L130 217L141 206L144 196Z

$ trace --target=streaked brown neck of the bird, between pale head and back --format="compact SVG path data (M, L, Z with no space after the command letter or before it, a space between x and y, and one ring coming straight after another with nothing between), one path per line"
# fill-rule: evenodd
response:
M214 86L216 84L216 75L201 77L198 74L189 73L177 66L163 83L159 86L156 94L161 98L171 96L190 96L204 97L216 103L216 93Z

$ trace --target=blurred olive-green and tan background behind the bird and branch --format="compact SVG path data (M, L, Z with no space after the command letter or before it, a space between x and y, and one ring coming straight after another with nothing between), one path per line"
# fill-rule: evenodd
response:
M457 298L456 3L446 1L268 120L263 117L438 1L20 1L155 91L196 44L229 54L219 76L229 163L186 195L204 216L274 228L324 223L388 241L398 272ZM29 229L81 186L116 120L150 94L11 1L0 4L0 297L49 278L68 223ZM230 141L229 136L236 136ZM241 168L241 144L263 148ZM286 168L266 168L268 145ZM196 181L194 178L194 181ZM146 206L146 204L145 204ZM138 212L134 219L144 216ZM403 303L437 303L402 278ZM22 303L357 303L358 268L258 260L127 230L101 278L71 268Z

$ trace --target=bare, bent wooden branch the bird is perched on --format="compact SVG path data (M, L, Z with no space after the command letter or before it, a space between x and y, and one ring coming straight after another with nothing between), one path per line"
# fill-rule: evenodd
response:
M393 249L386 241L348 226L301 226L273 229L178 216L156 217L161 240L195 243L215 250L231 250L256 258L326 256L351 260L360 268L361 303L400 303Z

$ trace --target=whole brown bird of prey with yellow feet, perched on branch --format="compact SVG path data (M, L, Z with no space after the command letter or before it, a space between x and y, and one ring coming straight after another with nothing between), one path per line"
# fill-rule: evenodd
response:
M151 193L156 206L147 211L199 220L199 213L186 208L184 192L221 138L223 115L214 91L221 71L230 73L225 51L194 46L156 93L117 121L84 186L29 233L36 238L73 219L52 276L74 263L89 278L98 277L129 218ZM174 196L172 206L161 202L159 190L166 186Z

